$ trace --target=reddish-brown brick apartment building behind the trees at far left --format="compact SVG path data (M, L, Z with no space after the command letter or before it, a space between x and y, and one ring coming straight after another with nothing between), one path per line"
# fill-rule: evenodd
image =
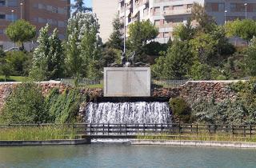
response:
M18 19L24 19L37 28L37 32L50 24L50 29L58 28L59 38L65 38L66 23L70 18L70 0L0 0L0 47L4 50L14 46L6 36L6 27ZM30 50L34 42L27 42Z

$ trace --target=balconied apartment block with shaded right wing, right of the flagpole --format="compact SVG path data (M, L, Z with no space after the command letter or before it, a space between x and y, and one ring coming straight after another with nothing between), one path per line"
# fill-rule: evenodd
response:
M194 2L205 6L219 25L236 18L256 20L255 0L120 0L118 14L122 22L126 21L126 27L137 20L150 19L159 28L155 41L166 43L173 38L174 27L191 17Z

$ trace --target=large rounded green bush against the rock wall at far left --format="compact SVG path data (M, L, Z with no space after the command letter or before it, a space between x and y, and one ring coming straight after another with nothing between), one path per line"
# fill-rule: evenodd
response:
M47 118L42 91L30 82L16 86L0 115L1 123L42 123L47 122Z

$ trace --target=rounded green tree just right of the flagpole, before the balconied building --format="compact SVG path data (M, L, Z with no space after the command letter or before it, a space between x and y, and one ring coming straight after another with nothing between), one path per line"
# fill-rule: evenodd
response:
M135 51L138 55L137 61L145 61L143 60L143 54L145 54L144 46L146 46L146 42L158 36L158 28L154 26L150 20L142 22L136 21L129 25L128 34L130 50Z

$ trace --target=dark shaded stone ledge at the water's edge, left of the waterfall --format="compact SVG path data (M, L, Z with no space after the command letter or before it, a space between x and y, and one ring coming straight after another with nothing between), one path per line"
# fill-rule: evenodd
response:
M0 141L0 146L56 146L90 144L89 138L49 141Z

